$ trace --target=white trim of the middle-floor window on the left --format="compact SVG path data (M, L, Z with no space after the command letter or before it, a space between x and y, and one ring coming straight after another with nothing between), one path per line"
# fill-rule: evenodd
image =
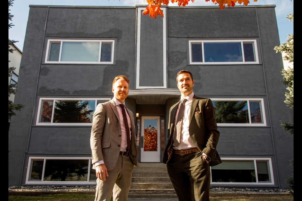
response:
M40 115L41 115L42 100L52 100L53 101L53 111L52 111L52 119L53 119L54 103L56 100L95 100L95 108L96 108L98 101L109 101L109 100L111 100L111 98L44 98L44 97L42 97L39 99L36 126L92 126L92 123L53 123L53 122L43 122L42 123L42 122L39 122Z

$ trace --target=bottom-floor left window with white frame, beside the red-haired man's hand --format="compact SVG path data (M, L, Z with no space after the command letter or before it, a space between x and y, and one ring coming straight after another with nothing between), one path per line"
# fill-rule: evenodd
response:
M26 184L96 184L91 157L29 157Z

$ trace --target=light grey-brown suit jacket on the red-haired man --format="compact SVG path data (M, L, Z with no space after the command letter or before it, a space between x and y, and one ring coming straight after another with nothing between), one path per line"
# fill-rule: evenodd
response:
M137 166L137 139L133 113L126 108L131 121L131 155L130 158ZM98 104L93 114L90 147L92 151L92 164L104 160L108 171L115 168L121 144L120 118L115 102L110 100Z

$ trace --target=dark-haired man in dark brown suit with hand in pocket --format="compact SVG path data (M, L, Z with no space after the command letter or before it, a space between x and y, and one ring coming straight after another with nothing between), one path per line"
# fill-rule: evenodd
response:
M209 200L210 166L221 159L214 106L193 93L193 75L182 70L176 76L181 100L170 109L168 143L163 162L179 200Z

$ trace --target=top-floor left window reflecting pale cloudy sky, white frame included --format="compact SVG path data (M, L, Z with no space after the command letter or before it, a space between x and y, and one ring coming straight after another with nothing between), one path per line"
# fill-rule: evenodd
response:
M113 64L114 42L49 39L45 63Z

